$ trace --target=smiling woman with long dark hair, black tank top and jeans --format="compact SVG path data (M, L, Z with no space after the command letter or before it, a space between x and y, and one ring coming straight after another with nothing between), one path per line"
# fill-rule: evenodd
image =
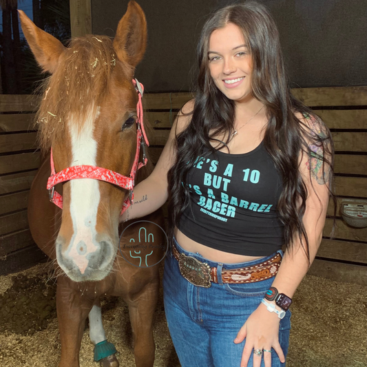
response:
M291 95L261 4L213 14L198 64L195 100L134 189L147 200L122 220L169 200L163 289L182 367L284 366L291 297L322 240L330 132Z

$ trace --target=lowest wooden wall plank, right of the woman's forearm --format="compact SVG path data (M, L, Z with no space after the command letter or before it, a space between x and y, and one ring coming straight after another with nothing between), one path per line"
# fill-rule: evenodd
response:
M316 259L308 271L309 275L326 277L335 282L348 282L367 285L367 267L362 265L343 264Z

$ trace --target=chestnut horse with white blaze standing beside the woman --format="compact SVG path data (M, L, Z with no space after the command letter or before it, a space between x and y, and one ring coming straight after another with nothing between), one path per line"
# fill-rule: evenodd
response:
M157 265L134 266L134 262L125 260L131 251L118 249L118 218L127 191L100 178L68 180L56 186L63 196L61 210L50 202L46 189L52 162L56 172L81 165L109 169L112 176L129 176L132 171L139 147L138 130L140 134L136 123L139 94L132 78L145 53L145 15L136 2L130 1L113 41L107 36L87 35L73 39L65 48L23 12L19 14L37 62L51 73L37 123L41 149L46 156L52 148L53 160L50 162L48 154L34 178L28 220L34 241L54 260L58 275L59 367L79 366L87 317L95 360L100 360L101 366L119 365L116 349L107 342L103 330L101 295L121 295L127 302L136 366L152 367L152 320L159 273ZM143 151L137 157L144 160ZM152 168L148 161L137 171L135 182L147 178ZM143 219L163 225L161 211ZM124 224L125 228L129 226L123 232L124 238L138 242L140 226L129 224ZM154 235L155 242L165 242L164 234L154 223L144 227ZM149 264L159 262L162 254L162 249L149 253Z

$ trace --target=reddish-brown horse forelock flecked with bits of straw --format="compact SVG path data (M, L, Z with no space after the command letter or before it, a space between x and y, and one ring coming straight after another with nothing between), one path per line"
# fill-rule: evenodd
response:
M132 74L129 65L117 60L109 37L87 35L72 39L60 56L56 72L43 85L43 99L36 114L41 149L50 149L70 120L80 130L87 117L96 114L96 108L110 92L114 70L120 73L120 79Z

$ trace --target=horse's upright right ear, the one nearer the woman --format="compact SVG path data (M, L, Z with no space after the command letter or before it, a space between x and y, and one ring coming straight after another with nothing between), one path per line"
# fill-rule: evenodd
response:
M140 63L147 47L147 21L135 1L129 1L127 12L117 26L114 50L120 61L133 67Z

